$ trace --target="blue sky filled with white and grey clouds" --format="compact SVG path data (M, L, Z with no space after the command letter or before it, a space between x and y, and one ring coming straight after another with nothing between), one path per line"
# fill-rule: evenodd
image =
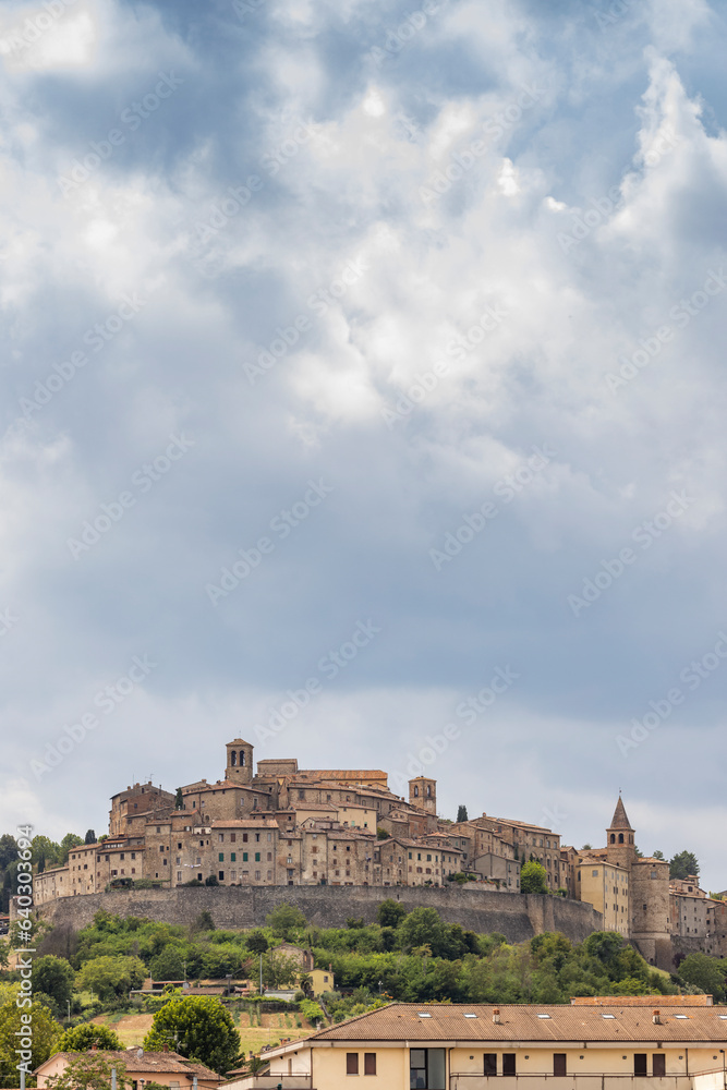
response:
M3 3L3 831L242 736L727 886L726 45Z

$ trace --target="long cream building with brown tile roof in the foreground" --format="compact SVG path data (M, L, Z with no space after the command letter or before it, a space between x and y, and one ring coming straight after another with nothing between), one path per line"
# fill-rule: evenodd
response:
M264 1052L269 1074L238 1085L485 1090L509 1076L529 1090L724 1090L727 1014L633 998L592 1006L390 1004Z

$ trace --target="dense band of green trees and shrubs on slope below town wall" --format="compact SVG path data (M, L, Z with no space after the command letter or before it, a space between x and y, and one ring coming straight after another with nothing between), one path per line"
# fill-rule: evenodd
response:
M383 901L380 922L368 925L351 919L347 928L314 928L293 911L294 918L277 909L269 927L249 932L121 919L99 911L78 933L71 958L76 986L94 981L97 994L102 988L111 996L128 991L130 981L138 986L136 981L146 974L195 980L229 973L256 980L260 954L267 986L284 986L292 982L294 965L276 950L283 932L313 949L317 968L331 968L338 988L363 990L371 1002L381 994L408 1002L567 1003L571 995L678 991L613 932L593 934L580 944L556 933L510 945L504 935L478 935L445 923L432 908L407 913L395 900ZM705 958L712 974L702 968L699 977L700 957L690 955L682 964L683 980L693 986L703 980L710 990L715 981L724 985L722 962L714 958Z

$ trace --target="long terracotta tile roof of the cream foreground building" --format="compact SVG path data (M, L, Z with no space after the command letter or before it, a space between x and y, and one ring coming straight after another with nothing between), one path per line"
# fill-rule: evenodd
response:
M604 1042L719 1042L727 1040L727 1021L715 1007L693 1007L687 1017L676 1018L662 1004L664 996L649 996L649 1005L613 1006L482 1006L478 1004L417 1005L392 1003L359 1015L307 1040L328 1041L487 1041L493 1043L532 1041ZM493 1012L500 1021L493 1021ZM654 1025L653 1010L661 1010ZM679 1012L682 1014L682 1012ZM475 1017L465 1017L465 1015ZM614 1015L613 1018L604 1014ZM421 1017L425 1015L425 1017ZM428 1016L428 1017L426 1017ZM546 1017L547 1016L547 1017Z

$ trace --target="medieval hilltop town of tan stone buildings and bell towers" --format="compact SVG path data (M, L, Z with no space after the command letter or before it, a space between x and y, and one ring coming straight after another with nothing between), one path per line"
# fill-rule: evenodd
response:
M36 876L35 903L120 886L448 886L521 893L521 869L536 861L549 893L583 901L652 962L671 936L727 953L727 903L696 879L670 881L669 864L638 853L619 797L603 848L564 846L526 821L437 814L436 780L393 794L380 770L302 770L295 759L262 760L253 746L227 744L225 776L177 792L134 784L111 799L109 833L72 848L63 867Z

